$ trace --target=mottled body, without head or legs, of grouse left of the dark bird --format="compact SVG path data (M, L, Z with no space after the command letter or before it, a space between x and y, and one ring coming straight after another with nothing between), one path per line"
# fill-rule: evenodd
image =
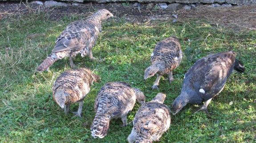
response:
M150 64L163 62L165 69L161 71L163 74L168 74L177 68L182 59L182 51L179 40L175 37L164 39L157 43L151 54Z

